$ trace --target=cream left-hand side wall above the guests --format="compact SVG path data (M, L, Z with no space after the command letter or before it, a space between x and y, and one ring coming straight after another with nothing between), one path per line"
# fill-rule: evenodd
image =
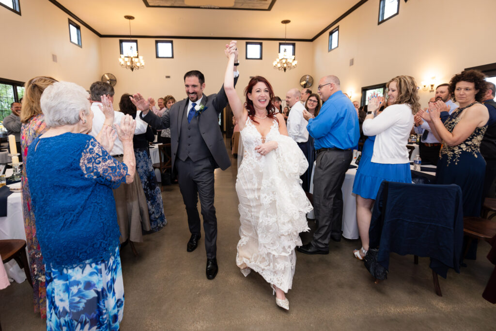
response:
M54 4L22 0L20 6L22 16L0 7L1 78L27 81L47 75L84 87L100 79L99 37L81 26L80 48L70 43L69 16Z

